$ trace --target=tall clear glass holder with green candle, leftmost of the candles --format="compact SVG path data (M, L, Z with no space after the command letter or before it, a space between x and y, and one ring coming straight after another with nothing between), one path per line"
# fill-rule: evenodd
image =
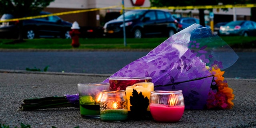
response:
M79 83L79 104L82 118L100 118L101 91L109 89L109 83Z

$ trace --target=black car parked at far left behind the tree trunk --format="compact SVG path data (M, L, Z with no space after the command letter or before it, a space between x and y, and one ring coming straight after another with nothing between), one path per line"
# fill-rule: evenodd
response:
M50 14L49 12L40 12L40 15ZM11 14L4 14L1 20L15 18ZM2 22L0 24L1 38L18 38L20 22ZM58 16L48 16L44 18L35 18L23 21L22 34L24 38L70 38L69 31L72 23L59 18Z

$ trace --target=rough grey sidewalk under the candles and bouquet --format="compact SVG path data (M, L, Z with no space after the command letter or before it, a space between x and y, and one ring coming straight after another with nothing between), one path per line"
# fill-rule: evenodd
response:
M74 74L0 70L0 123L10 128L20 123L31 128L256 128L256 79L227 78L233 88L234 108L230 110L185 110L180 122L154 120L103 122L80 118L79 108L20 111L24 98L76 94L81 82L102 82L108 74Z

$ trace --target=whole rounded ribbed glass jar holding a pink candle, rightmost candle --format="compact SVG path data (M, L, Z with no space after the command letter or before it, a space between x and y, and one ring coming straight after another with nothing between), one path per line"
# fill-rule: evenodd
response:
M182 90L157 90L150 95L150 113L158 122L178 122L184 113Z

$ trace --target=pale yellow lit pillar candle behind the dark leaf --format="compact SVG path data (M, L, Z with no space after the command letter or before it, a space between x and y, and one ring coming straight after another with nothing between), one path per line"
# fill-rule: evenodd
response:
M126 97L127 97L127 103L128 103L128 111L130 111L130 96L132 96L132 92L133 89L136 90L139 94L140 92L142 92L142 95L144 96L144 98L148 98L148 100L150 99L150 92L154 91L154 83L152 82L141 82L141 83L136 83L132 86L128 86L126 87ZM147 110L149 111L149 106L147 108Z

